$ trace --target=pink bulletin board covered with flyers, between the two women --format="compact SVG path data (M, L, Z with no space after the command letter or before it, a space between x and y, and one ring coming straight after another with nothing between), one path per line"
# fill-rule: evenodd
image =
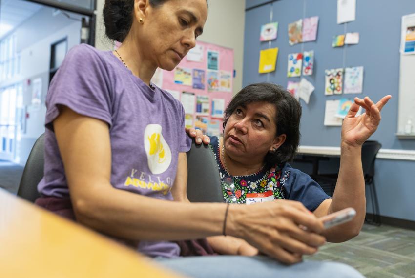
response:
M187 126L219 136L224 109L232 98L233 49L198 41L193 50L200 51L200 55L189 52L174 70L162 71L161 87L174 93L173 96L183 103ZM200 61L195 61L199 58ZM183 69L184 72L178 74ZM197 70L197 78L194 70ZM198 103L198 98L204 102Z

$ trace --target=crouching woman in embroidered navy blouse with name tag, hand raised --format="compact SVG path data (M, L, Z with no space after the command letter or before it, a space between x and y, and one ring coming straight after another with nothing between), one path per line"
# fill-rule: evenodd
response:
M287 163L293 160L300 142L300 103L278 85L246 86L225 110L223 137L210 137L224 202L254 204L287 199L301 202L317 217L353 207L356 217L352 221L328 229L323 235L332 242L355 237L366 215L361 147L377 129L380 110L390 98L385 96L376 104L368 97L354 99L342 125L340 169L330 198L309 175ZM355 117L360 107L366 111ZM208 238L213 250L226 250L228 241L223 237ZM241 240L233 245L250 254L258 253Z

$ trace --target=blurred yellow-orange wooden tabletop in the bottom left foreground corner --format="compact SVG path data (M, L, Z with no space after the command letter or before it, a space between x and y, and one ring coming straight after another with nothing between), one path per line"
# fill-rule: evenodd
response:
M178 277L0 188L0 277Z

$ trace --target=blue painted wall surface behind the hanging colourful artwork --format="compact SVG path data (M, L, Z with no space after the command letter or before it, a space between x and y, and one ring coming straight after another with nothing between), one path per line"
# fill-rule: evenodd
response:
M378 140L385 149L414 150L415 140L396 136L401 129L398 116L404 113L399 124L404 125L414 107L415 58L412 58L415 55L406 57L403 64L399 52L402 16L415 13L414 0L356 0L355 20L343 24L337 24L336 10L337 0L247 0L242 85L272 82L286 87L288 81L300 81L302 77L287 77L288 55L313 50L313 73L305 78L315 90L308 104L300 100L301 145L339 145L341 126L324 125L326 100L369 96L377 101L391 94L392 99L382 110L381 123L371 139ZM317 39L291 46L289 24L314 16L319 17ZM278 22L276 40L260 41L261 26L274 21ZM348 32L360 34L358 44L332 47L333 36ZM279 48L275 71L258 73L260 51L275 47ZM325 95L325 70L357 66L364 67L361 94ZM407 90L405 94L404 90ZM408 107L400 111L398 100Z

